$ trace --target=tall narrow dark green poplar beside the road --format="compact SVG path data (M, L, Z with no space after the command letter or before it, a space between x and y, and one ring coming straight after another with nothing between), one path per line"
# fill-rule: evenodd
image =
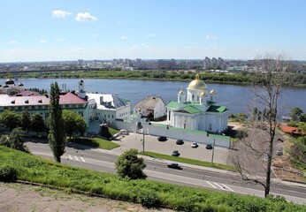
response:
M60 163L60 157L65 153L65 129L62 109L59 105L59 87L57 82L51 83L50 86L49 128L49 145L53 152L54 159Z

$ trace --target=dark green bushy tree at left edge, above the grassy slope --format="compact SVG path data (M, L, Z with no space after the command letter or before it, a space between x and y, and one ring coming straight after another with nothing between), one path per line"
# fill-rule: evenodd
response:
M3 135L0 138L0 145L8 148L15 148L23 152L29 152L27 147L24 145L25 140L23 139L24 131L21 127L17 127L11 131L8 135Z

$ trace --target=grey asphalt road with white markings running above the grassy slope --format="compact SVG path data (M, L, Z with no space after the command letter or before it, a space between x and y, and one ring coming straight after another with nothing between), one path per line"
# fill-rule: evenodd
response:
M53 159L47 143L27 142L27 147L34 155ZM62 163L115 173L114 162L119 152L103 149L65 148ZM256 196L264 196L264 187L255 183L246 183L240 176L225 170L213 170L200 166L181 164L182 170L174 170L167 167L167 161L145 157L147 168L144 172L149 179L169 182L172 184L195 186L221 192L242 193ZM306 204L306 186L295 183L284 183L279 180L272 181L272 194L282 195L287 201Z

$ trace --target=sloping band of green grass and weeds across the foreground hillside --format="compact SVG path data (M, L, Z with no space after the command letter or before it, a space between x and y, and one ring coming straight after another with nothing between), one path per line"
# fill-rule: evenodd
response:
M17 179L72 192L102 194L111 199L140 203L147 207L169 207L180 211L305 211L306 206L284 198L262 199L234 193L218 193L194 187L174 186L150 180L126 180L103 172L69 167L0 146L0 164L11 164Z

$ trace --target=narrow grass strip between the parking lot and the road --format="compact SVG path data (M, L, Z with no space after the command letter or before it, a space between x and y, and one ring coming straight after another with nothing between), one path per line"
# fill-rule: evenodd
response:
M220 170L232 170L232 171L235 170L233 166L228 166L228 165L220 164L220 163L213 163L212 166L210 166L210 162L202 162L202 161L184 158L180 156L177 157L177 156L172 156L172 155L163 155L159 153L146 152L146 151L144 152L144 155L156 157L156 158L162 158L165 160L170 160L170 161L175 161L175 162L180 162L180 163L188 163L188 164L205 166L205 167L213 167L213 168L217 168Z

